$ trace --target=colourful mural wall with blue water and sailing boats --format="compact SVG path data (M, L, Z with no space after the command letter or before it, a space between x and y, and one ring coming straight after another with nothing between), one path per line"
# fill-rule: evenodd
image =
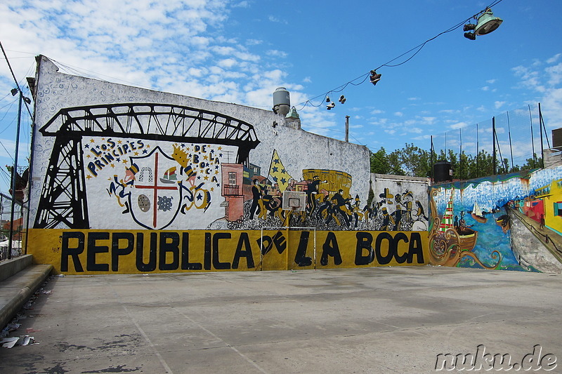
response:
M514 253L511 220L519 212L521 220L534 221L537 229L543 229L541 221L548 222L544 229L560 237L562 216L556 207L562 200L561 178L558 167L431 186L430 263L538 271ZM526 227L537 231L532 222ZM551 256L549 248L543 251Z

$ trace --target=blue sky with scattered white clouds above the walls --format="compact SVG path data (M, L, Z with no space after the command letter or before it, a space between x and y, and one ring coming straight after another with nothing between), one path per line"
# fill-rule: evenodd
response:
M267 110L275 88L285 86L304 130L343 140L350 116L350 141L373 151L406 142L429 149L430 135L444 147L445 131L453 131L447 147L459 147L459 128L463 147L471 147L476 123L485 147L483 123L509 110L517 162L532 156L528 105L542 103L548 131L562 127L562 1L501 0L492 8L504 20L495 32L471 41L459 27L394 60L493 2L7 0L0 41L23 86L39 54L69 74ZM360 84L387 62L404 63L378 69L377 86ZM357 86L330 92L349 81ZM2 60L1 166L13 163L13 87ZM330 111L326 94L336 103ZM536 124L534 109L532 117ZM20 165L30 154L30 123L23 116ZM501 126L499 135L507 134ZM1 192L8 179L0 172Z

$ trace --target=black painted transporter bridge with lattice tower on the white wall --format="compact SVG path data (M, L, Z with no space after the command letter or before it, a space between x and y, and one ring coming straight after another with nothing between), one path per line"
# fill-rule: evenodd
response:
M89 229L83 136L134 138L235 146L237 163L247 166L259 140L254 126L204 109L155 103L63 108L39 129L55 142L46 171L34 228Z

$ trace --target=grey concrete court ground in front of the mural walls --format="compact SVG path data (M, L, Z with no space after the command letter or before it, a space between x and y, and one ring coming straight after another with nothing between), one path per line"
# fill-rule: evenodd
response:
M434 373L479 345L546 365L561 283L430 266L55 276L11 333L39 344L0 347L0 373Z

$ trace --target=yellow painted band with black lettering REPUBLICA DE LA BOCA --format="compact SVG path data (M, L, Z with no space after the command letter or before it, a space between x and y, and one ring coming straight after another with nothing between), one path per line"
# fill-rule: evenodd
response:
M64 274L426 265L427 232L33 229L34 261Z

